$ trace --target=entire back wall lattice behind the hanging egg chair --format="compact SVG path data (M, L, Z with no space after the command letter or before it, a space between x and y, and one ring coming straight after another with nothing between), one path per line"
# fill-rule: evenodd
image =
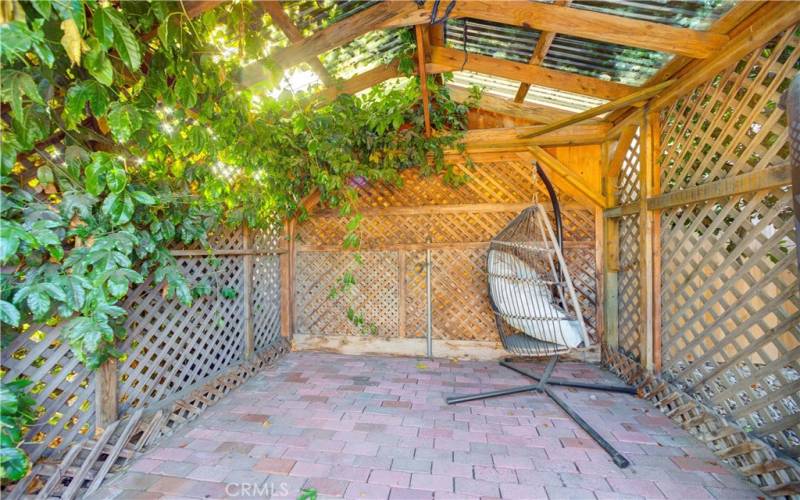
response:
M423 337L426 331L425 249L432 248L434 338L496 340L486 296L486 249L536 187L526 162L495 161L465 169L470 180L452 188L440 178L402 173L402 188L364 186L359 202L365 216L359 227L363 265L341 250L347 219L322 212L298 227L296 277L297 333L363 335L347 317L363 314L382 337ZM546 194L537 193L547 204ZM596 334L594 212L559 193L565 254L576 280L590 334ZM343 273L356 285L329 297Z

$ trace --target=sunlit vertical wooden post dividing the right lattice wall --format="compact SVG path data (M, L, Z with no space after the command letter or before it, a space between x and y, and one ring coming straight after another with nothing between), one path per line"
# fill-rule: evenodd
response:
M639 130L639 354L642 366L653 369L653 212L647 200L653 193L653 127L648 107Z

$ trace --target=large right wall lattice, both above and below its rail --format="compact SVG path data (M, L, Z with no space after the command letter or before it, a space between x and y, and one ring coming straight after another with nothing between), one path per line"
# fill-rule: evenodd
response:
M776 106L797 75L789 30L665 114L665 191L787 163ZM665 375L721 417L800 456L800 294L788 188L664 211Z

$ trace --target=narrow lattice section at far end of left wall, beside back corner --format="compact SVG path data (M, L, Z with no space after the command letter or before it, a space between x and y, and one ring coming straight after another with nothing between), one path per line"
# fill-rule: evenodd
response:
M281 225L259 229L252 234L253 259L253 335L258 352L272 345L281 333L280 257Z

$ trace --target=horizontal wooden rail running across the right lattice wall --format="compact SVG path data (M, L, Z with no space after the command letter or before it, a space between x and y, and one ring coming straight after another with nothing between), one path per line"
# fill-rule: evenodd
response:
M792 168L788 164L765 168L727 179L709 182L700 186L672 191L647 199L648 210L664 210L701 203L737 194L752 193L763 189L773 189L792 183ZM639 202L629 203L606 210L605 217L631 215L639 210Z

